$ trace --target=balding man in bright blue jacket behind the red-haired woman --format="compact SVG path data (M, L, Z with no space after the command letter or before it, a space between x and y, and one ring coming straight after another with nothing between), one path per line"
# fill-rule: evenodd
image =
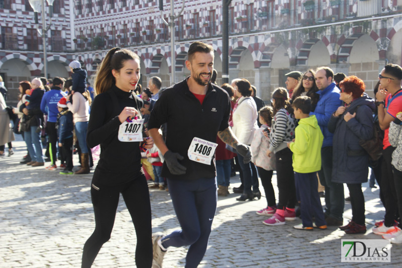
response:
M343 224L343 209L345 206L343 184L332 182L332 138L334 134L328 130L328 122L331 115L342 105L339 100L340 90L336 86L334 72L329 67L319 67L316 71L317 92L320 100L316 110L310 115L315 115L321 131L324 135L321 148L321 170L318 172L321 184L325 187L325 221L328 226L341 226Z

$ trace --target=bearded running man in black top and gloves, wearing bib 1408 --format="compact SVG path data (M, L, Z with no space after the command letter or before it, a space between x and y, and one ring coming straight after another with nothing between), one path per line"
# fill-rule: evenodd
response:
M228 94L210 82L214 69L212 46L194 42L185 64L190 76L166 88L149 119L149 133L162 152L162 176L181 230L153 236L153 268L162 267L169 246L189 245L186 268L197 267L207 250L217 208L215 149L217 134L251 160L250 148L238 142L229 128ZM166 143L158 129L167 123Z

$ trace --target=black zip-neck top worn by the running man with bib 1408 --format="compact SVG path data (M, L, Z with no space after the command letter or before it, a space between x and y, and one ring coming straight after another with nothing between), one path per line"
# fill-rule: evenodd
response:
M216 142L218 131L229 127L229 96L221 87L210 83L201 105L189 91L187 79L163 91L148 121L148 129L167 123L166 146L184 157L179 162L187 168L185 174L173 175L165 162L161 175L182 180L215 177L215 157L211 164L202 164L189 160L187 150L194 137Z

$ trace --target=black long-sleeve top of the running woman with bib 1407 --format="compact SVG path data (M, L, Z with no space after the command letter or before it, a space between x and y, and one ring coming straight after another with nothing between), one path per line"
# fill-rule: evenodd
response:
M100 157L95 170L95 174L100 175L94 175L94 181L118 185L143 174L139 142L122 142L118 139L120 113L125 107L134 107L138 111L142 107L142 101L138 99L140 107L137 107L134 98L137 97L114 85L93 100L86 142L91 148L100 144Z

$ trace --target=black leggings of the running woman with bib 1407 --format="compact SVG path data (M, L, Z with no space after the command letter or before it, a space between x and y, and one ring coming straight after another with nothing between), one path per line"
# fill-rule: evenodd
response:
M97 176L96 170L94 178ZM100 173L100 172L99 172ZM95 230L85 242L82 252L82 268L90 267L102 245L110 239L120 193L133 220L137 246L135 262L138 268L150 268L152 265L152 227L151 204L144 175L118 186L105 186L91 183L91 200L95 213Z

